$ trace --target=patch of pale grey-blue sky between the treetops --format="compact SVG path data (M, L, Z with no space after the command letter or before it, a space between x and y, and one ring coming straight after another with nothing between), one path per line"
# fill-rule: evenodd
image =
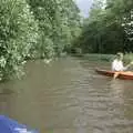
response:
M75 2L81 10L81 14L86 18L93 0L75 0Z

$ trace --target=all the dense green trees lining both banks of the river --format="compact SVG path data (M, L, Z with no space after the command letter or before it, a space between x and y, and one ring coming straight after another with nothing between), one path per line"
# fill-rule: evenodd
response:
M0 0L0 80L73 51L133 52L133 0L94 0L84 20L74 0Z

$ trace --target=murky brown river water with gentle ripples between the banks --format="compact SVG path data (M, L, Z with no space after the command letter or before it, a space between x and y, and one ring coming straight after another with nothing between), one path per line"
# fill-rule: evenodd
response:
M0 113L41 133L133 133L133 81L94 72L104 62L29 62L27 76L0 85Z

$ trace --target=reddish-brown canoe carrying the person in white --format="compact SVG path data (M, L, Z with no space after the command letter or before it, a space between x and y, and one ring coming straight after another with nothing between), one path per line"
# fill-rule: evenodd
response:
M95 69L95 71L99 74L106 75L106 76L113 76L115 73L114 71L108 71L108 70L101 70L101 69ZM117 78L123 80L133 80L133 72L131 71L120 72Z

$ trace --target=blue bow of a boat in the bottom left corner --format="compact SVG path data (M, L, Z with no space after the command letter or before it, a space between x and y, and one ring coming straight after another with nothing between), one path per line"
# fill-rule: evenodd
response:
M4 115L0 115L0 133L39 133L35 130L30 130L23 124L11 120Z

